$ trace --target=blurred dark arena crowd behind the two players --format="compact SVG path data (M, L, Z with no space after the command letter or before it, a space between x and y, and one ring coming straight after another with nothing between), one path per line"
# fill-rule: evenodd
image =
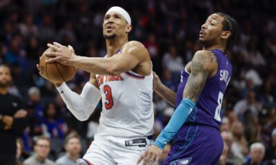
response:
M13 78L10 93L23 98L29 118L29 126L19 139L22 151L19 163L37 151L36 140L41 135L42 141L46 140L41 145L49 146L48 157L53 161L66 152L63 146L66 135L79 134L82 146L79 155L85 153L93 140L101 103L89 120L77 121L52 83L39 76L35 65L46 44L53 41L72 45L81 56L105 56L101 27L104 14L112 5L130 13L130 40L144 43L153 70L174 91L181 70L201 49L197 39L208 15L225 12L235 17L240 32L233 50L226 51L233 65L233 76L222 104L221 164L276 164L276 1L273 0L0 1L0 63L9 65ZM80 93L89 76L79 70L68 85ZM157 95L154 105L155 134L158 134L174 108Z

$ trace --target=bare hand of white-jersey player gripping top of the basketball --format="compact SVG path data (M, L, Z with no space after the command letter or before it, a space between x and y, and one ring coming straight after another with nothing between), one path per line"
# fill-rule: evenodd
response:
M75 51L72 46L64 46L60 43L54 42L53 45L48 43L48 47L52 48L53 52L46 52L46 56L50 56L52 58L46 60L46 63L59 62L63 65L70 65L72 58L75 56Z

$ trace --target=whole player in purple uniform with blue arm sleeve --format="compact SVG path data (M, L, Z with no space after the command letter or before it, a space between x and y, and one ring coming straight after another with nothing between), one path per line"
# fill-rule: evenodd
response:
M165 164L219 164L223 140L219 133L221 103L232 75L232 65L224 51L233 46L237 22L224 13L211 14L201 25L199 43L193 60L181 73L177 94L157 87L157 94L175 104L177 109L166 128L138 160L158 164L166 143L174 137L174 144Z

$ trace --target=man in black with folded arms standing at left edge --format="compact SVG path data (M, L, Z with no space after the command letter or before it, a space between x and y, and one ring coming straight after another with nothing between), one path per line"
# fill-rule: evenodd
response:
M27 112L21 98L8 93L12 81L10 69L0 65L0 164L14 165L17 137L28 124Z

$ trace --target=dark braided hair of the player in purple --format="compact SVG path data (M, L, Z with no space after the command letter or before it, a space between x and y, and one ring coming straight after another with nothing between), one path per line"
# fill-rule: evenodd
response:
M223 12L216 12L215 14L218 14L220 17L224 18L224 21L222 21L222 30L231 32L226 43L226 48L230 50L237 39L239 25L237 24L237 21L228 14Z

